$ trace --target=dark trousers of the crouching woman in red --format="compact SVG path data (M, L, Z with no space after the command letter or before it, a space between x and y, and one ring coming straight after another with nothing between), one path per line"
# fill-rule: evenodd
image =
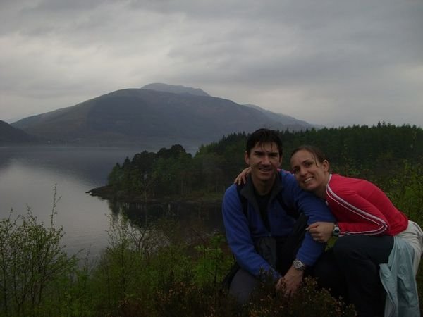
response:
M313 268L319 285L353 304L358 316L383 315L385 292L379 264L388 263L391 236L348 235L340 237Z

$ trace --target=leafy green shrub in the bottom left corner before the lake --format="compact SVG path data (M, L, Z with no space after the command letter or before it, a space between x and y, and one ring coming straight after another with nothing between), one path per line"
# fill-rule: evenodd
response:
M0 221L0 313L45 316L66 301L76 258L61 246L63 228L54 227L56 188L49 225L39 223L28 207L24 216Z

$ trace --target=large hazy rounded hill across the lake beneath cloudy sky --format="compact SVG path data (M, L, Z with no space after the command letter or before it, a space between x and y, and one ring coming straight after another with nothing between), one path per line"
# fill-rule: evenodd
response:
M310 128L299 120L281 124L278 118L263 111L211 97L201 89L165 84L145 87L104 94L75 106L24 118L13 126L54 143L146 149L176 143L198 147L223 135L252 132L260 127Z

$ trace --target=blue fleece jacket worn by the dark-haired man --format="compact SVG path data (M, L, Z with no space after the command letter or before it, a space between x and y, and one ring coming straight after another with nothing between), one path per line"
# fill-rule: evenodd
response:
M237 185L226 189L222 206L226 238L239 265L255 276L259 276L261 270L270 271L275 280L281 277L280 273L255 251L254 243L259 237L286 237L292 232L295 219L288 216L286 210L279 204L277 195L281 195L287 209L305 213L309 217L307 221L309 224L317 221L335 222L324 201L312 193L303 191L291 173L282 170L278 173L279 175L280 177L275 179L267 209L271 232L266 229L260 216L251 180L248 180L240 190L240 194L248 202L247 218L243 213ZM307 266L312 266L324 251L325 245L315 242L309 232L306 232L302 246L298 250L297 259Z

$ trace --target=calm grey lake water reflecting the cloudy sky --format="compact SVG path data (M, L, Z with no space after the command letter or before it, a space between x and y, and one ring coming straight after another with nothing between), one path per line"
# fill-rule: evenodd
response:
M180 220L196 217L207 222L208 230L221 230L220 206L155 206L146 211L136 204L111 204L86 192L106 184L111 168L126 156L142 149L81 147L0 147L0 217L13 209L13 218L27 208L37 219L49 223L54 200L54 187L60 200L56 206L56 228L63 226L63 244L69 254L90 250L90 258L108 245L109 218L125 212L128 218L144 219L176 213Z

